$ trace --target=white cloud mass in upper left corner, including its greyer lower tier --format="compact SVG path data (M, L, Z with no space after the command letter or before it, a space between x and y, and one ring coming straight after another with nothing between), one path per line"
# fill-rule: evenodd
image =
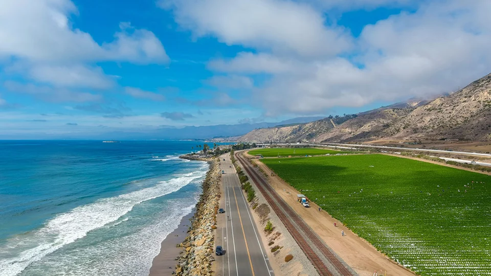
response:
M78 10L70 0L3 0L1 5L0 61L33 83L51 89L107 89L114 86L114 79L95 66L97 62L169 62L161 41L151 31L129 22L122 22L114 38L104 43L73 28L71 17L78 15ZM68 95L62 96L63 92ZM57 89L57 95L74 98L70 90Z

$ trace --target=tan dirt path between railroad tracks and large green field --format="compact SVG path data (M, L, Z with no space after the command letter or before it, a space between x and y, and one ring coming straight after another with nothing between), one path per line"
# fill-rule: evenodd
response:
M249 155L249 157L251 157ZM271 175L271 170L254 160L267 175ZM342 258L346 264L353 268L361 276L372 276L375 271L379 275L415 275L414 272L403 266L389 260L386 256L378 252L375 247L364 239L356 236L348 228L342 226L342 223L333 219L327 212L318 211L319 206L311 203L311 208L304 208L297 202L296 195L300 192L288 185L278 176L269 176L269 181L273 189L280 197L288 203L291 208L299 214L304 221L320 236L321 239ZM337 226L334 227L334 222ZM341 236L344 231L346 236Z

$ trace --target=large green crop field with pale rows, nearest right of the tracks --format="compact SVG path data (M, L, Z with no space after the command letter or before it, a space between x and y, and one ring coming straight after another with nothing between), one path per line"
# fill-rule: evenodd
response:
M418 274L491 275L491 176L381 154L261 162Z

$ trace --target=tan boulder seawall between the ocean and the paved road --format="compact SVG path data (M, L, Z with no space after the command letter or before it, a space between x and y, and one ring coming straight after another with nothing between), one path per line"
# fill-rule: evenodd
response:
M183 155L180 158L205 161L210 169L203 181L203 193L196 203L196 212L191 220L191 227L181 247L180 256L176 258L176 275L213 275L214 236L216 229L216 213L220 198L220 162L218 158L203 158Z

